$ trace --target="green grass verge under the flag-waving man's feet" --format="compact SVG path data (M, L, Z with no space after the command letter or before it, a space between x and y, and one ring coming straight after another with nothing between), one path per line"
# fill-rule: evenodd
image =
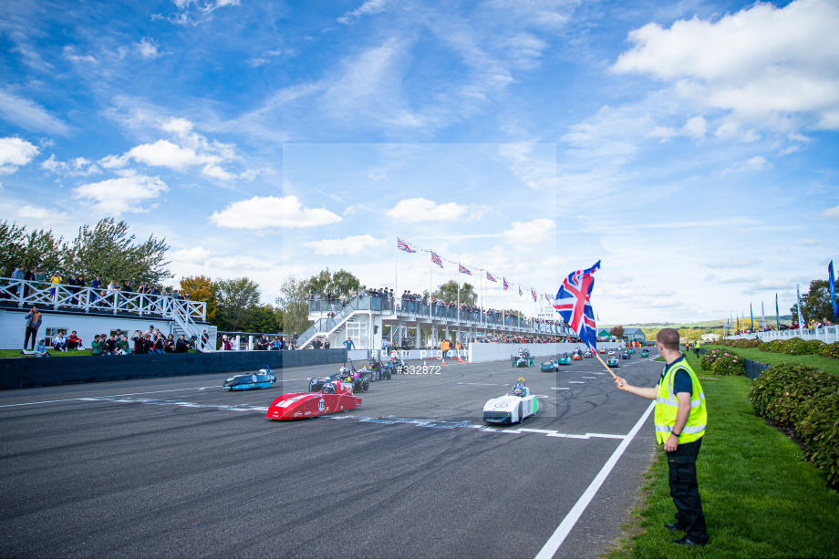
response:
M697 362L695 358L689 360ZM693 365L693 364L691 364ZM699 373L699 369L698 369ZM710 534L703 547L680 547L663 525L676 509L661 446L645 474L641 499L606 558L835 558L839 493L799 447L754 416L749 379L699 373L709 430L697 463Z

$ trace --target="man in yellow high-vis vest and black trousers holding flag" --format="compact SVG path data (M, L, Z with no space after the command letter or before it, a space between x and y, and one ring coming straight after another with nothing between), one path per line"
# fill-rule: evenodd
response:
M618 389L656 401L656 441L668 454L670 496L676 505L676 523L668 531L683 531L674 544L693 546L708 543L705 515L699 496L696 460L708 425L708 410L702 385L685 357L678 351L678 331L662 328L656 335L658 354L667 365L656 387L635 387L615 378Z

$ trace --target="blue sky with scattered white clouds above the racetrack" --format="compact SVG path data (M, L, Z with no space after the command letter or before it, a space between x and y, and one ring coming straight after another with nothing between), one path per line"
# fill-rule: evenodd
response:
M839 261L836 29L836 0L4 2L0 220L114 216L172 283L265 303L328 266L533 313L599 260L604 325L783 315Z

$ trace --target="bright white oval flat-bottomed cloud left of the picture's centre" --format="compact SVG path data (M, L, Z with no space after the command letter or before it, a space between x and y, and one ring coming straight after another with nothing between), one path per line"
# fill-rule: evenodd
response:
M254 196L233 202L210 221L219 227L262 230L282 227L317 227L341 222L342 218L326 208L306 208L295 196Z

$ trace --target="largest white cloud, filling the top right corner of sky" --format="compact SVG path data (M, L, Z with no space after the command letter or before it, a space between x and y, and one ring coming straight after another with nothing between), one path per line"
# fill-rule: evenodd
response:
M839 129L839 4L796 0L782 8L757 3L717 21L697 17L665 29L651 23L629 33L634 45L616 72L674 83L678 95L726 109L752 123L794 126L783 115Z

